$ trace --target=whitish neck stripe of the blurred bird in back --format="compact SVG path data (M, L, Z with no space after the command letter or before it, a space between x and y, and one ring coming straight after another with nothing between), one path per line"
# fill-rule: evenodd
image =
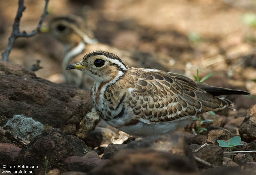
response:
M74 46L64 46L64 59L62 62L62 68L65 69L73 58L84 52L84 49L85 44L83 41L76 43Z

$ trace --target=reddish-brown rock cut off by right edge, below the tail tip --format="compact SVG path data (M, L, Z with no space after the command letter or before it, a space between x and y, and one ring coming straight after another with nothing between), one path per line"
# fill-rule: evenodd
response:
M246 117L239 127L239 134L245 142L256 140L256 104L247 111Z

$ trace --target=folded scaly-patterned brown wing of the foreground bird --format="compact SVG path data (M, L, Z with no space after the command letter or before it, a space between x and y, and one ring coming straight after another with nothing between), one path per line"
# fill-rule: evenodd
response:
M135 85L129 106L148 123L193 118L231 104L197 87L188 77L154 69L130 68Z

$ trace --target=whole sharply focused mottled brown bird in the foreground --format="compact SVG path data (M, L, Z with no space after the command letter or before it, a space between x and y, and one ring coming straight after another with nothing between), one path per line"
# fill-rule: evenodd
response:
M97 113L108 124L132 135L173 131L201 113L233 105L218 95L250 94L194 82L171 72L126 67L118 56L105 51L88 53L66 69L90 75L95 80L91 96Z

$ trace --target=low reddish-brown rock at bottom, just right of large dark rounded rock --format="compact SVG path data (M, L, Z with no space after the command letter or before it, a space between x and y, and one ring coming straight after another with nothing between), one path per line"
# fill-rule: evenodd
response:
M105 164L108 160L102 160L95 151L87 153L83 157L72 156L65 160L68 171L87 172Z

